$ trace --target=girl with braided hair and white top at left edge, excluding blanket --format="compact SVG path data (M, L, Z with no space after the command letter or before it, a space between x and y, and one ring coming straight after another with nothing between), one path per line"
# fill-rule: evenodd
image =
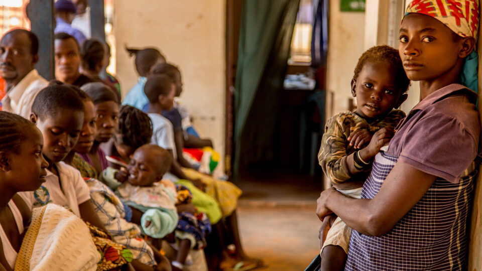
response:
M48 163L42 147L42 133L32 122L0 112L0 270L14 269L31 218L30 208L17 193L36 190L45 182Z

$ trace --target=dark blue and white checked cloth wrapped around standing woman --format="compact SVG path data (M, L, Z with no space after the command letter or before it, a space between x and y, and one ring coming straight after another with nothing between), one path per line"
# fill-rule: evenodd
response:
M362 198L375 197L397 160L384 152L375 157ZM475 175L471 171L457 184L437 179L381 237L353 230L345 270L466 270L467 215Z

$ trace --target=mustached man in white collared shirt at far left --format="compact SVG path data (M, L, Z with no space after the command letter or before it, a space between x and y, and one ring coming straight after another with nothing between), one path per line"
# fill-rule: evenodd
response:
M37 36L25 29L9 31L0 40L0 76L7 82L4 111L29 118L35 97L48 85L34 68L38 50Z

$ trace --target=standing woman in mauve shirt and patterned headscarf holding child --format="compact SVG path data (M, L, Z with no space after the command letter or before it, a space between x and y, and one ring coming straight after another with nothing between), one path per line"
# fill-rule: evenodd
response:
M465 86L476 88L477 29L477 0L407 8L399 52L420 102L376 156L362 199L333 188L318 198L320 219L335 213L353 228L345 270L467 269L480 120Z

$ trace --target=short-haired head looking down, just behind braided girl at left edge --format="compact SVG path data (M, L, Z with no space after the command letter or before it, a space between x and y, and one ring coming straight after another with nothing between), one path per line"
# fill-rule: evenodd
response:
M43 134L45 158L60 162L77 143L84 122L84 105L74 89L47 86L35 98L30 120Z

